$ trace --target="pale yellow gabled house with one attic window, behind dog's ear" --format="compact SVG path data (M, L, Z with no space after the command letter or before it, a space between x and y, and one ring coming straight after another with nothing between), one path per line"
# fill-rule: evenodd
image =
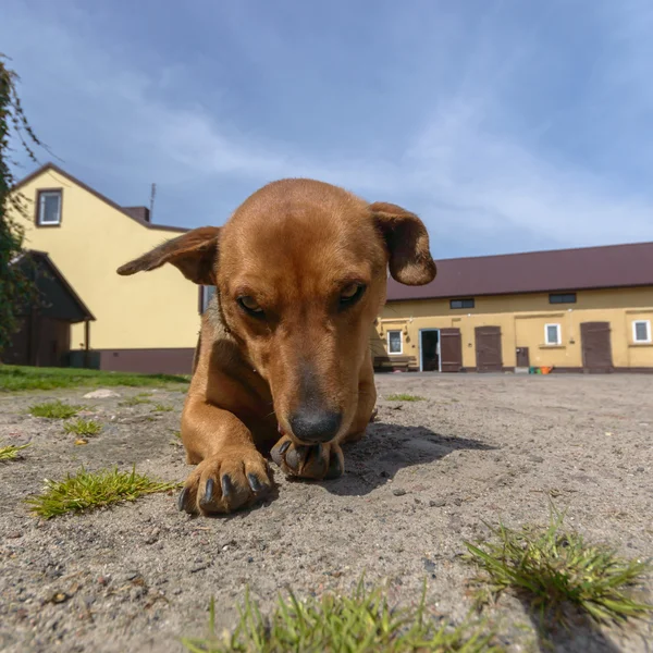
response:
M50 341L66 340L70 352L59 357L62 366L84 365L86 352L87 362L106 370L189 373L204 293L170 266L130 278L115 272L187 230L153 224L146 207L122 207L51 163L21 181L15 192L32 211L25 248L48 255L49 264L90 316L63 325L71 330L67 340L60 334L53 338L51 320L37 321L33 349L42 352ZM35 324L26 322L28 328ZM25 334L16 337L29 340ZM27 349L14 353L16 357L16 362L39 360Z

